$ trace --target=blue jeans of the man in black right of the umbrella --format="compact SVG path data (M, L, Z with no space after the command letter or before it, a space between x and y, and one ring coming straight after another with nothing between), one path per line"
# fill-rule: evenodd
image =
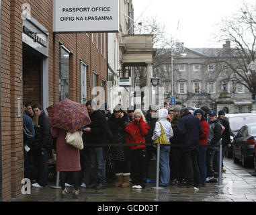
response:
M91 183L105 185L105 161L104 148L93 147L90 148L91 157Z

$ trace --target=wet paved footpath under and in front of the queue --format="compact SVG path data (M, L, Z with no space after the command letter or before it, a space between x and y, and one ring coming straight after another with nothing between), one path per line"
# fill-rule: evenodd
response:
M60 198L60 189L48 187L32 188L31 195L22 195L17 202L256 202L256 177L233 163L224 159L222 185L206 183L199 190L194 188L169 185L164 189L152 189L155 183L146 183L145 189L114 187L108 184L105 189L80 188L78 199L73 199L73 187L67 187L67 198ZM253 170L252 170L253 171Z

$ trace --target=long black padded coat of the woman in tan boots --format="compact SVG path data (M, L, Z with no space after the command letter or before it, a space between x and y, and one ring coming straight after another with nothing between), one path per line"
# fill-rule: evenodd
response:
M113 135L111 143L126 143L126 131L124 129L129 123L128 114L125 112L122 118L116 118L114 114L112 114L108 120L108 125ZM128 161L130 150L127 146L111 146L111 151L114 161Z

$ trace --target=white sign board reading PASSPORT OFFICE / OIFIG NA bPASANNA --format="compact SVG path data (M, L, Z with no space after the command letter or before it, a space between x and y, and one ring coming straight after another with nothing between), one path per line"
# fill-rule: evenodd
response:
M118 32L118 0L53 0L53 32Z

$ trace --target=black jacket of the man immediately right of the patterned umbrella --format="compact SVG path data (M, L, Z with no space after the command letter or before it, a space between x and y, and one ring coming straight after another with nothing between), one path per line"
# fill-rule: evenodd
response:
M108 122L100 110L95 110L93 114L89 114L89 116L91 124L89 124L88 127L91 128L91 132L85 133L85 144L102 144L103 147L104 144L106 145L108 143L108 140L112 139Z

